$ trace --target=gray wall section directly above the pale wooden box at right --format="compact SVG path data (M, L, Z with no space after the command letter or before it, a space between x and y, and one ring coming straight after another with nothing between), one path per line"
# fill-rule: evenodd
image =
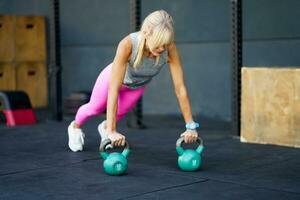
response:
M300 66L300 1L244 0L244 65Z

